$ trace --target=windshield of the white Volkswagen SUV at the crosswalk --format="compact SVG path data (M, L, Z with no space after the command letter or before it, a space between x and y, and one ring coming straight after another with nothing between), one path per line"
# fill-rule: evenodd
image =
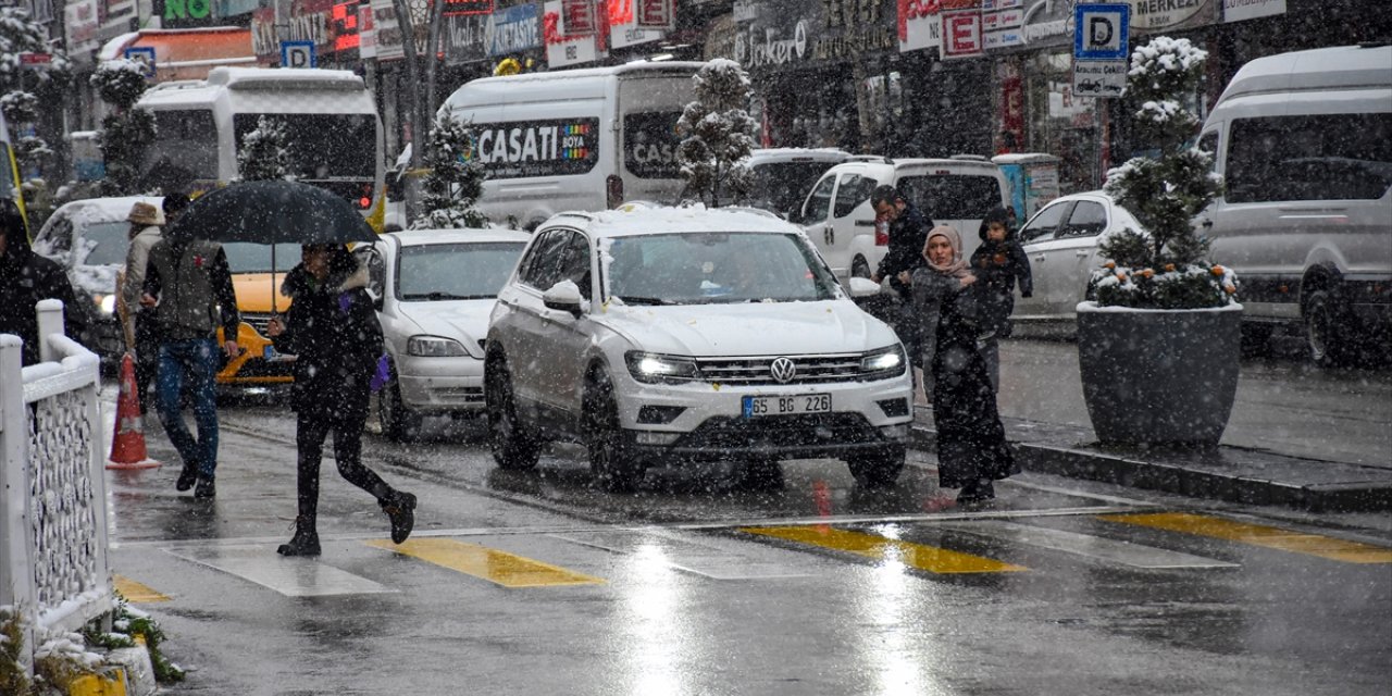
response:
M619 237L608 246L608 294L625 303L702 305L832 299L837 280L795 234Z

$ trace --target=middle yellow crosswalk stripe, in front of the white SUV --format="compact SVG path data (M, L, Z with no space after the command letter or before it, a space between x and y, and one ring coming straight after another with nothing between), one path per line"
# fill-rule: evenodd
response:
M938 548L934 546L915 544L885 539L883 536L863 535L860 532L846 532L827 526L766 526L743 528L741 532L750 535L771 536L802 544L821 546L837 551L846 551L866 558L892 558L910 568L937 574L965 574L965 572L1015 572L1027 571L1020 565L983 558L980 555L963 554Z

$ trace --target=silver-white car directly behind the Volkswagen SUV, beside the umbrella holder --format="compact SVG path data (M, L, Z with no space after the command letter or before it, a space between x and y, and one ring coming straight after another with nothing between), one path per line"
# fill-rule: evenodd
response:
M370 273L391 365L377 395L387 437L415 437L426 415L483 409L489 313L528 239L512 230L411 230L354 249Z

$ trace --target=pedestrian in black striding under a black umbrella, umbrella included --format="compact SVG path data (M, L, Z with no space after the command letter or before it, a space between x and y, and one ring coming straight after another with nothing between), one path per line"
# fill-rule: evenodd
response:
M319 465L330 432L338 472L377 498L391 521L391 540L405 541L415 526L416 497L393 489L362 464L362 430L383 338L366 291L367 270L345 244L372 242L377 234L342 198L284 180L213 191L189 206L180 228L224 242L301 244L301 263L281 287L291 298L290 313L285 319L273 316L266 329L277 351L295 355L291 404L296 412L298 515L295 536L277 553L320 553Z

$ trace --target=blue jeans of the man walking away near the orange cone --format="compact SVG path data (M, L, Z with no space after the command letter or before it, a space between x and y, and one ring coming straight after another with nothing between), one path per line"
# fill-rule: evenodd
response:
M212 338L160 344L160 370L156 377L160 423L164 425L164 433L184 459L184 466L196 468L198 476L207 480L213 480L213 472L217 469L217 404L213 377L217 374L219 363L217 341ZM185 379L193 400L198 440L184 425L180 406Z

